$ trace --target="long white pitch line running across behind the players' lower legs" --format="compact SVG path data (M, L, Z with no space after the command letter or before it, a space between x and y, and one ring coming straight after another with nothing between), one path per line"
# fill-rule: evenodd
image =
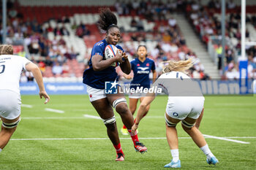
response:
M206 138L213 138L208 137L210 135L206 135ZM224 138L224 137L218 137ZM255 139L256 136L229 136L227 138L246 138L246 139ZM34 141L34 140L108 140L109 138L36 138L36 139L11 139L12 141ZM131 138L120 138L120 139L131 139ZM148 137L148 138L140 138L140 139L166 139L166 137ZM178 137L178 139L191 139L190 137ZM243 142L242 144L248 144L249 142Z

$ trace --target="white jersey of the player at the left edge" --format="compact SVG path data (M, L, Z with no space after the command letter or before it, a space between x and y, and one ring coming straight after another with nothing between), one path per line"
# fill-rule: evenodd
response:
M0 90L20 93L20 74L29 62L18 55L0 55Z

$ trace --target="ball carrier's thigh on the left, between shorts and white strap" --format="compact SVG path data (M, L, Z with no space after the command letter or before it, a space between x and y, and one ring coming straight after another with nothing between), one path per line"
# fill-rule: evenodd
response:
M102 119L105 120L114 116L114 112L112 107L110 106L108 98L101 98L96 101L91 101L91 104L94 106Z

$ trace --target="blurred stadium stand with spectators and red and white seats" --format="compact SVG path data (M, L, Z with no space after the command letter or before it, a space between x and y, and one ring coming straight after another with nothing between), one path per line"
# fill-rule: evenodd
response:
M157 64L158 76L161 61L194 57L197 62L189 71L191 77L238 80L238 62L248 58L248 78L256 78L255 44L246 45L246 56L241 57L241 0L224 1L225 50L220 0L2 2L7 4L7 25L3 29L1 7L1 43L14 45L15 54L37 63L45 82L82 82L91 48L105 36L97 28L101 7L116 12L122 31L120 44L129 59L135 58L138 45L147 45L150 58ZM256 1L246 0L246 42L256 41L255 8ZM7 36L3 36L4 30ZM117 72L122 79L120 69ZM33 81L33 77L24 72L20 81Z

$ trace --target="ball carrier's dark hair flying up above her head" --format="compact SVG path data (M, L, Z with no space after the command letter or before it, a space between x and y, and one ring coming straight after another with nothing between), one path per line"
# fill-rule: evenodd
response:
M101 28L103 31L107 31L110 28L116 27L119 28L117 24L117 18L116 15L110 11L109 8L101 8L99 9L100 14L99 14L99 23L98 26Z

